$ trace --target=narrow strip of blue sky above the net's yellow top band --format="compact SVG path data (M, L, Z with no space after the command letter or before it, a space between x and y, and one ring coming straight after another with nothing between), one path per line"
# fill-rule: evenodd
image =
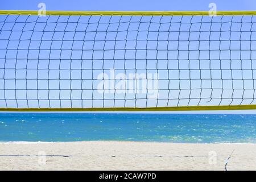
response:
M37 10L40 2L47 10L80 11L207 11L209 3L217 10L255 10L255 0L9 0L1 1L2 10Z

